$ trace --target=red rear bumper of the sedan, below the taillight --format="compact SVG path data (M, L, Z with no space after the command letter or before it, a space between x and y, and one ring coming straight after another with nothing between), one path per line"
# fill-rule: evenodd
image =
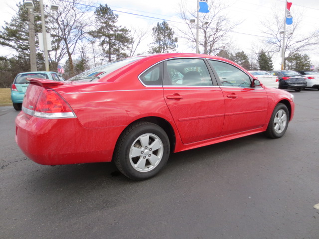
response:
M77 118L41 119L21 112L15 141L22 152L44 165L109 162L125 126L84 128Z

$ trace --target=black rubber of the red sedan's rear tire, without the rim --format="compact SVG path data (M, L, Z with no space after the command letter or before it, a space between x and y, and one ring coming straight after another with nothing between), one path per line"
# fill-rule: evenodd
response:
M130 162L130 149L133 142L143 134L152 133L158 136L163 145L163 155L160 163L149 172L140 172L133 168ZM150 122L139 122L127 128L120 136L116 147L115 164L118 169L127 177L133 180L144 180L159 173L165 166L169 156L169 139L166 132L157 124Z

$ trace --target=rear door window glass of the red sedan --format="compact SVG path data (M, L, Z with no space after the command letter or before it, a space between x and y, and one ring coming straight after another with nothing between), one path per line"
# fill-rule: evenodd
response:
M212 86L212 80L203 59L173 59L166 62L165 83L173 86Z

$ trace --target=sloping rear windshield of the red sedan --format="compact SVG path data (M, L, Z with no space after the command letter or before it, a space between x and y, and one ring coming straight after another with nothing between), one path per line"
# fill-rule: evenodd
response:
M110 74L113 71L120 69L132 62L135 62L142 57L126 58L118 61L113 61L101 66L94 67L88 71L82 72L81 74L72 77L68 81L96 81L103 76Z

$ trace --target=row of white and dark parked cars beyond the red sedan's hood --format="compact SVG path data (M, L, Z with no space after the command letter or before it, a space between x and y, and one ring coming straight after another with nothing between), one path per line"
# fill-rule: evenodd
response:
M267 87L293 89L305 88L319 90L319 73L314 71L249 71Z

